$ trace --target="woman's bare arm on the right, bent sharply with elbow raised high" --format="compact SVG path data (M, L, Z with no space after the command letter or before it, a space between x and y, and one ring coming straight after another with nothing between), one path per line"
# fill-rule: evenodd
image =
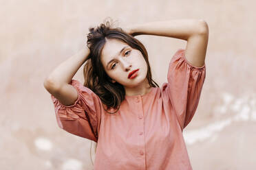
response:
M155 21L126 27L129 34L167 36L186 40L185 56L193 66L203 66L209 39L209 27L202 19Z

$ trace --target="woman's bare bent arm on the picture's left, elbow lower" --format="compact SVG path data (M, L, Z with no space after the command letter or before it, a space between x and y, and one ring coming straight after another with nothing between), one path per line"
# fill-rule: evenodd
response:
M78 98L78 93L70 82L78 69L87 60L89 52L89 48L85 46L74 56L58 65L43 82L45 89L65 106L74 104Z

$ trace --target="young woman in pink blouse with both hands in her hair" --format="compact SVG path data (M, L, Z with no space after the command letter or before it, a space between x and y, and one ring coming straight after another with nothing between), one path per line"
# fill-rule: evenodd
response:
M59 127L97 143L94 169L192 169L182 130L198 107L209 28L203 20L90 28L87 47L47 77ZM147 50L134 38L186 40L169 60L167 80L152 80ZM160 56L158 56L160 57ZM72 79L85 62L85 83Z

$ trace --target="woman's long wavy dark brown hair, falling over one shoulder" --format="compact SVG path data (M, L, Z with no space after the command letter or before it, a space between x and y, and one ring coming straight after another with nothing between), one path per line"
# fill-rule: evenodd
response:
M90 53L83 69L83 75L85 78L84 86L90 88L94 93L96 93L96 95L98 95L103 106L107 107L107 109L104 108L107 113L114 114L119 110L120 104L125 99L125 88L118 82L111 82L111 77L107 75L102 62L100 61L101 52L106 43L106 39L120 40L125 42L131 48L138 49L147 62L146 77L149 82L149 86L156 87L158 84L151 76L147 50L138 39L134 38L134 36L128 34L120 27L111 27L109 21L101 23L98 27L89 27L87 47L89 48ZM116 111L108 112L107 110L110 108L114 108ZM92 154L92 143L90 154Z

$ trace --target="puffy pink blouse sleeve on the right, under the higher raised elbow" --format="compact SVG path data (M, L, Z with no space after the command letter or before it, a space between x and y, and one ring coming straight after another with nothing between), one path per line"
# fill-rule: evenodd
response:
M206 77L206 66L193 66L186 60L184 49L178 49L169 62L167 94L183 130L198 108Z

